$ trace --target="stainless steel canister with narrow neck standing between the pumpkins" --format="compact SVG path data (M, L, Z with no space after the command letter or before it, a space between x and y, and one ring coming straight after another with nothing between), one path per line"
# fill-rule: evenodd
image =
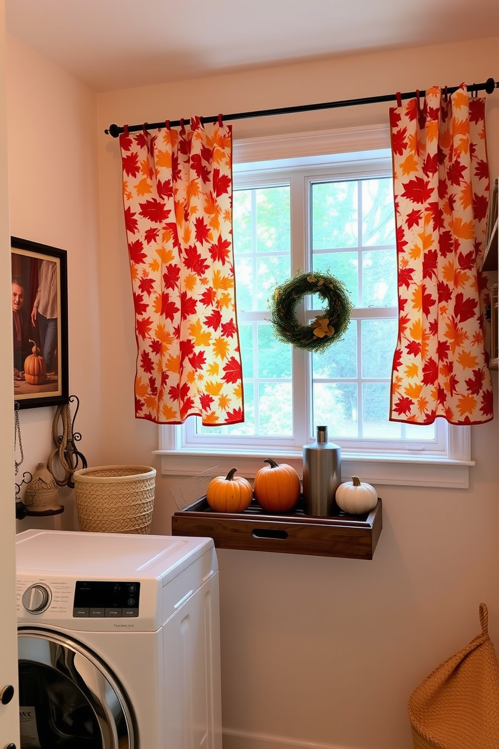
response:
M341 449L328 442L327 426L317 427L316 442L303 448L303 500L306 515L334 515L336 490L341 483Z

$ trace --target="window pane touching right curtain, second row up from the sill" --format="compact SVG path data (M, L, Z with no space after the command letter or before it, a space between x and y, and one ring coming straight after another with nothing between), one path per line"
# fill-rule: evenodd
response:
M363 320L361 329L362 377L390 377L397 342L397 320Z

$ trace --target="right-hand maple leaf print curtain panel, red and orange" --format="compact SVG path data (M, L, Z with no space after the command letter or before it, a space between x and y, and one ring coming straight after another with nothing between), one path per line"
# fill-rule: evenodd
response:
M390 110L399 335L392 421L493 418L481 273L489 201L485 99L465 85Z

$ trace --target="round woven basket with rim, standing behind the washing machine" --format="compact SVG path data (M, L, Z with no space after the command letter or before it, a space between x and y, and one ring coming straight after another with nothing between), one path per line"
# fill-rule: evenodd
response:
M153 519L156 469L99 466L73 473L81 530L97 533L149 533Z

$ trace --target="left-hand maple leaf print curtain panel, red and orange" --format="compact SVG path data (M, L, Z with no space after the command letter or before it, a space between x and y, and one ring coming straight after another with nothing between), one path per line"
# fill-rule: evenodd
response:
M135 308L135 417L244 421L232 244L232 129L120 136Z

